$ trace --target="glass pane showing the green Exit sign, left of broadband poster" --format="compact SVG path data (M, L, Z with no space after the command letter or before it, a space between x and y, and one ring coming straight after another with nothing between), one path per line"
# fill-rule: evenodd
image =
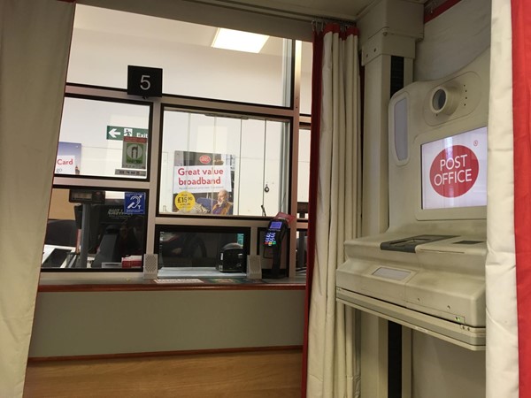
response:
M150 105L66 96L55 173L146 179Z

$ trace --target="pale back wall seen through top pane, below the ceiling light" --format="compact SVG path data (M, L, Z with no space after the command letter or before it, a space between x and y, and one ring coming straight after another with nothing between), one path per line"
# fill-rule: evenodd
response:
M142 27L137 29L142 32ZM166 94L281 104L283 70L278 46L277 40L278 54L254 55L175 42L171 36L74 28L67 80L127 88L127 65L150 66L163 69Z

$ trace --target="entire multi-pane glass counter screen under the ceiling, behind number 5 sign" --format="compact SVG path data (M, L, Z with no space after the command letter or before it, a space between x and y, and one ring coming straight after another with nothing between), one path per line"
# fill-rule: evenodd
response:
M258 52L223 50L212 46L219 31L76 5L49 215L63 232L47 236L44 270L141 271L136 256L158 253L161 270L230 272L219 271L220 254L239 261L243 236L242 256L264 255L267 273L258 229L281 211L304 229L310 134L297 130L311 123L299 112L310 110L312 44L267 37ZM128 65L162 69L163 96L127 94ZM97 192L103 203L85 202ZM136 193L150 210L121 218ZM283 246L286 274L302 251L295 238L289 231ZM117 244L127 248L119 256Z

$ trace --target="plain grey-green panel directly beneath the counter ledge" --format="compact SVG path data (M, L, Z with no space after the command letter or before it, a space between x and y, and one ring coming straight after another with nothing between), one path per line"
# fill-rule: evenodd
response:
M302 289L40 293L29 356L300 346L303 328Z

